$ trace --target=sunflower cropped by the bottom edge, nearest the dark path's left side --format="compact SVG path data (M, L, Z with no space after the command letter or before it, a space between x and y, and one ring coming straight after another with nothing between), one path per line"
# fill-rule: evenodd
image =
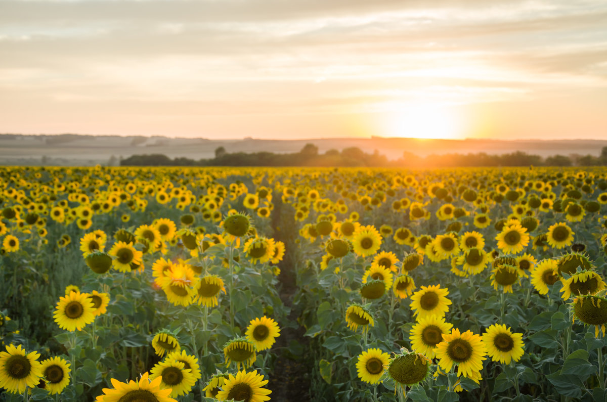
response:
M263 375L256 371L246 372L245 370L236 373L236 376L229 374L223 382L222 390L217 393L220 401L243 401L243 402L263 402L270 400L271 390L263 388L268 380L263 380Z

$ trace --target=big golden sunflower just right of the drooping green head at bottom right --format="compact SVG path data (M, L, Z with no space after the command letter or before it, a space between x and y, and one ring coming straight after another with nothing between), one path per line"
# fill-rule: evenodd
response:
M450 334L443 335L443 341L436 346L434 352L441 369L449 371L453 364L457 364L457 375L469 377L483 369L487 348L480 335L470 330L459 333L456 328Z

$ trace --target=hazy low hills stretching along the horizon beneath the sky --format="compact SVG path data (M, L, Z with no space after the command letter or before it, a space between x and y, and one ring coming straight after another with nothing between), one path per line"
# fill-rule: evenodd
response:
M418 138L322 138L310 140L209 140L207 138L120 137L118 135L21 135L0 134L0 165L118 165L120 158L134 154L164 154L169 158L195 160L212 158L215 149L226 152L298 152L307 143L318 147L319 153L330 149L358 147L364 152L375 150L388 159L398 159L403 152L420 157L431 154L486 152L507 154L523 151L548 157L551 155L598 156L607 140L420 140Z

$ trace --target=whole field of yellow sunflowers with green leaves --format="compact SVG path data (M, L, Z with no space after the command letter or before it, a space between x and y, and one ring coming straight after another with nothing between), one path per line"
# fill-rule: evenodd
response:
M607 400L606 168L0 167L0 211L0 401Z

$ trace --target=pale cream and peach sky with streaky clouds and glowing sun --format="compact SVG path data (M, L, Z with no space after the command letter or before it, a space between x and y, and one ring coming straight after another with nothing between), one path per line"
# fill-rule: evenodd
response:
M0 0L0 132L607 138L605 0Z

